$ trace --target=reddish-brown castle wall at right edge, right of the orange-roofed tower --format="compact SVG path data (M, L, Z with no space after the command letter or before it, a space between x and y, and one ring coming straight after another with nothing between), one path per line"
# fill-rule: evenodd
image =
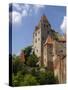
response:
M66 45L63 42L53 43L54 75L58 77L59 83L66 81Z

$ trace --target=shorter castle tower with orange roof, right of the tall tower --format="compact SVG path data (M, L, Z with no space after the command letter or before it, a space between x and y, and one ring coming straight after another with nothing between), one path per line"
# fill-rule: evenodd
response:
M53 39L48 35L43 47L44 66L53 71Z

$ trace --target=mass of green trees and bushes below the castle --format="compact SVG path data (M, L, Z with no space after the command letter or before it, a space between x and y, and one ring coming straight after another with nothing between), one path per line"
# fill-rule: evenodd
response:
M28 86L28 85L44 85L58 83L54 77L53 72L41 71L41 67L36 66L38 62L37 56L31 53L31 47L24 49L26 53L26 63L20 61L19 56L12 56L13 72L12 85L13 86Z

